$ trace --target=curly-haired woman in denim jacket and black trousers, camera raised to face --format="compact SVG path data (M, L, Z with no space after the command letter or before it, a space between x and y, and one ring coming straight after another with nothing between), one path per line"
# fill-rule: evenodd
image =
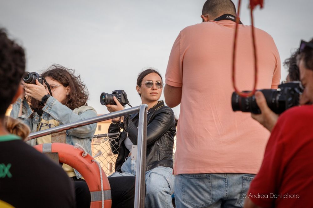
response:
M87 106L89 94L80 76L74 70L60 65L52 65L44 71L44 77L49 84L23 83L25 93L13 104L11 117L23 120L32 132L49 129L75 121L97 116L94 108ZM26 95L26 99L24 96ZM90 124L66 130L66 143L80 144L91 153L91 138L95 134L97 124ZM51 142L51 135L30 140L30 145ZM90 192L80 173L72 167L63 164L62 168L74 181L76 207L90 207ZM109 179L112 194L112 208L131 207L134 204L135 177Z

